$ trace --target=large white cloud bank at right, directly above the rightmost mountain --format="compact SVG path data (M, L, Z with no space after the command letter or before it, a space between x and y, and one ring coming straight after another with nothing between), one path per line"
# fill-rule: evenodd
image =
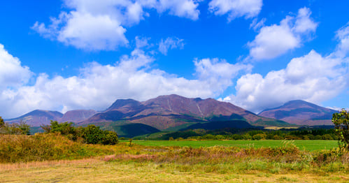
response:
M322 57L311 51L294 58L285 69L271 71L265 77L247 74L238 79L236 95L225 98L243 108L259 112L283 103L301 99L320 103L348 87L348 66L343 59Z

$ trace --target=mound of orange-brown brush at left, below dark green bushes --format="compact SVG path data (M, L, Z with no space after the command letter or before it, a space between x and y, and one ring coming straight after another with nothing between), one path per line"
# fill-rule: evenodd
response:
M0 135L0 163L82 159L113 153L111 147L81 144L59 133Z

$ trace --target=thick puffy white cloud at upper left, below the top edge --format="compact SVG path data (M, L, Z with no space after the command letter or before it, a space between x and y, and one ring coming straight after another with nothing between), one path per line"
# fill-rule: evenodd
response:
M119 45L127 45L125 31L117 20L107 15L71 12L57 40L85 50L114 50Z

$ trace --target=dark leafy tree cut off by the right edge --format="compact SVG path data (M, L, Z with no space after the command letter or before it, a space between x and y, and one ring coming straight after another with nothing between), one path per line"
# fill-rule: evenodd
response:
M334 113L332 122L339 136L339 147L349 149L349 111L342 109L341 112Z

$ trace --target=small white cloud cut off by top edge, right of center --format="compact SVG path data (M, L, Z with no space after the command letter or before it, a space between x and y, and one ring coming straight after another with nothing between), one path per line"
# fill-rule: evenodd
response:
M208 10L215 15L228 14L228 21L236 17L256 17L262 10L262 0L212 0Z

